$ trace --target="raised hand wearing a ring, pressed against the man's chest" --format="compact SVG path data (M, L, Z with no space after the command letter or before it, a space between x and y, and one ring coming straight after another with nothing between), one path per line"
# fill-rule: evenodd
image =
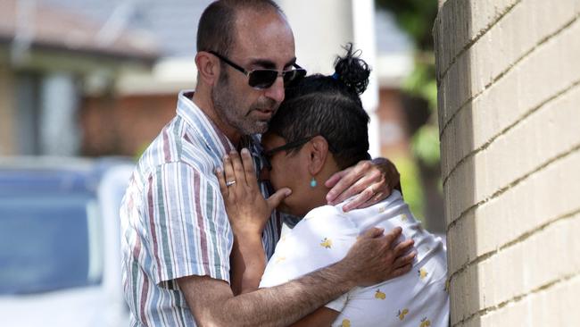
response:
M290 195L290 189L279 189L266 200L258 188L252 155L246 148L242 149L241 158L236 151L230 152L223 164L223 172L216 174L234 234L261 235L272 210Z

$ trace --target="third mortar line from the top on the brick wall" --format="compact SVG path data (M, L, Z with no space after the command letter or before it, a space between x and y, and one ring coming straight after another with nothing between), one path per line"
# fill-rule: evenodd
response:
M459 169L459 167L461 166L461 164L464 164L465 162L467 162L469 158L471 158L471 157L475 156L476 154L484 151L486 148L490 147L497 138L500 138L501 136L506 135L510 130L512 130L515 127L517 127L520 123L526 122L526 119L528 117L530 117L534 113L540 112L545 105L549 105L551 102L559 99L559 97L564 96L567 93L574 91L574 89L576 87L578 87L578 86L580 86L580 80L575 80L574 82L572 82L572 84L568 85L568 87L560 89L557 93L555 93L555 94L551 95L550 97L544 99L540 104L535 105L533 108L531 108L530 110L528 110L526 113L523 113L522 115L520 115L515 120L515 122L512 122L510 125L508 125L507 127L505 127L499 133L495 134L492 138L490 138L489 140L487 140L482 146L477 147L474 150L471 150L467 155L465 155L464 157L462 157L460 159L460 161L458 161L457 164L455 164L453 166L453 168L449 171L449 173L447 174L447 176L445 176L443 178L442 185L445 186L447 184L448 180L454 174L454 172L456 172ZM441 139L441 137L440 137L440 139Z

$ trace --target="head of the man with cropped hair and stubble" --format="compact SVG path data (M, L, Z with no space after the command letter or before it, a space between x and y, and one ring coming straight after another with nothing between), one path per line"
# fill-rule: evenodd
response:
M199 22L197 51L198 91L207 90L220 129L228 136L264 132L284 99L284 82L278 77L269 87L256 88L248 73L287 71L295 63L294 35L278 4L214 2Z

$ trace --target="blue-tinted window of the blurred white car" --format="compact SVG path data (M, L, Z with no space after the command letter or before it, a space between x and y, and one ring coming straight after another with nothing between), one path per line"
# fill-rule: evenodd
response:
M0 198L0 294L100 282L95 198L60 193Z

